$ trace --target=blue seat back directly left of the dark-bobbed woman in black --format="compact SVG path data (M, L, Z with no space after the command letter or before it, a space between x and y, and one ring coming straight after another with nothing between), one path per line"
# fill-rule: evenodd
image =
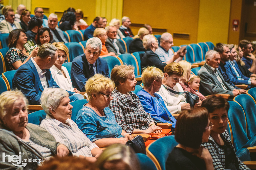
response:
M168 155L177 144L174 135L171 135L157 139L148 147L148 150L156 157L162 170L165 170L165 162Z

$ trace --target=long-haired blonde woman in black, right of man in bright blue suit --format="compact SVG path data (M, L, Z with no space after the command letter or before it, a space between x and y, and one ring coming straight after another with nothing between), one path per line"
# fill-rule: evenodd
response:
M237 50L237 58L236 58L236 62L237 62L237 65L240 69L240 71L242 72L242 74L246 77L250 77L251 79L255 80L256 79L256 74L250 72L245 63L243 62L242 58L243 58L243 51L242 51L242 48L239 47L238 45L235 45L235 48Z

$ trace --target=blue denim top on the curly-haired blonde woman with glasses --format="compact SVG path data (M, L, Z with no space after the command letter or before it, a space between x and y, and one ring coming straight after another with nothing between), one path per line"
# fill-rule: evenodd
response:
M103 109L105 116L99 116L90 107L83 106L76 117L79 129L92 142L102 138L121 138L122 127L116 123L109 107Z

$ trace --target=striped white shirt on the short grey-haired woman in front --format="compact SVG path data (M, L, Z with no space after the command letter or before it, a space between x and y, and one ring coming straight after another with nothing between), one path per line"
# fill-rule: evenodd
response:
M66 123L69 126L47 115L40 126L49 131L57 142L65 144L73 155L92 156L91 150L98 146L84 135L73 120L67 119Z

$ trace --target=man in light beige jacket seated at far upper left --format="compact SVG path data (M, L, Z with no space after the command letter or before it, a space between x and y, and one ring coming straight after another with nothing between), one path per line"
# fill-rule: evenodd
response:
M5 19L0 22L0 31L2 34L9 34L12 30L21 28L19 22L14 21L13 9L8 9L4 13L4 17Z

